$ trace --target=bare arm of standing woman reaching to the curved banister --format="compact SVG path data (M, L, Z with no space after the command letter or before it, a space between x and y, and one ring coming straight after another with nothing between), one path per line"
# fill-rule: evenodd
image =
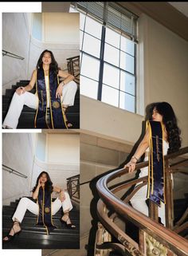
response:
M135 170L135 163L137 163L139 158L141 156L143 156L143 153L146 152L148 147L149 147L149 129L147 128L145 136L143 137L143 140L140 142L138 148L136 149L134 156L132 156L130 162L125 164L124 168L128 167L129 172L134 171Z

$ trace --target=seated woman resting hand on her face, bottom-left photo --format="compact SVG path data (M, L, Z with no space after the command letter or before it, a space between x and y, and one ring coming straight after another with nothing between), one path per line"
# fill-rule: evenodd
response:
M59 193L58 198L52 202L51 194L53 191ZM52 215L55 215L60 208L63 208L64 215L61 218L61 223L69 228L75 228L72 225L69 218L69 211L72 210L72 203L69 198L69 194L59 187L53 187L53 183L49 178L49 174L46 171L42 171L37 177L37 183L33 188L33 199L37 199L37 203L32 200L23 197L18 203L18 207L12 217L14 224L10 230L10 233L3 238L3 242L10 242L15 235L18 235L22 229L20 223L24 218L26 210L29 210L34 215L37 215L37 225L45 226L47 234L50 230L53 230Z

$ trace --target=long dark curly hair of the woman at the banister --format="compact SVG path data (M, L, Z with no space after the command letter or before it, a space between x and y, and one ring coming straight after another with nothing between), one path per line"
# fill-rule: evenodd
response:
M174 114L174 110L167 102L156 102L151 104L151 110L155 108L160 115L163 116L163 124L166 127L167 140L169 142L169 148L167 154L178 151L182 145L182 139L180 137L181 130L178 128L177 118ZM152 115L152 114L151 114Z

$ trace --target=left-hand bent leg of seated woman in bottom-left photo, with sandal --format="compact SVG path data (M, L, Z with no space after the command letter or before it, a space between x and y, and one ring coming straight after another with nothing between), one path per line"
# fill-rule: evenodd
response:
M22 219L24 218L25 211L29 210L32 212L34 215L38 214L39 208L37 203L34 203L32 200L27 199L26 197L23 197L20 202L18 203L18 207L16 211L14 212L13 215L13 221L14 224L10 230L9 235L14 236L14 234L17 234L18 232L21 231L20 223L22 223ZM3 238L3 241L8 241L10 238L7 236Z

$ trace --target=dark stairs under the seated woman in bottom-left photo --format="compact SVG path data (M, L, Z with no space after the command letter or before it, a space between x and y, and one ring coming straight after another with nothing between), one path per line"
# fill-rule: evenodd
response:
M31 199L31 198L29 198ZM10 206L2 207L2 238L9 233L12 226L12 216L19 200L11 202ZM49 235L45 227L36 226L37 216L26 211L22 221L22 232L13 242L2 243L3 249L79 249L80 248L80 221L79 211L73 207L70 219L76 229L69 229L60 222L62 210L53 216L53 224L57 226Z

